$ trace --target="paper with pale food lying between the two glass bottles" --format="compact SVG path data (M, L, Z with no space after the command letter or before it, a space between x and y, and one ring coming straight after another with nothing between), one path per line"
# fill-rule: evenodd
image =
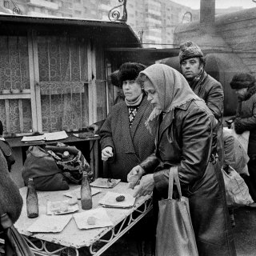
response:
M77 210L79 210L77 198L55 202L47 201L48 215L70 214Z

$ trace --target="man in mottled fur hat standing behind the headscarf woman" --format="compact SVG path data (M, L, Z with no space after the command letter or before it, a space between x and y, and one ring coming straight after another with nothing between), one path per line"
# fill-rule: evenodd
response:
M206 102L218 121L218 158L223 164L222 116L224 92L220 82L204 70L206 64L202 50L194 42L183 42L180 45L179 62L182 74L190 88Z

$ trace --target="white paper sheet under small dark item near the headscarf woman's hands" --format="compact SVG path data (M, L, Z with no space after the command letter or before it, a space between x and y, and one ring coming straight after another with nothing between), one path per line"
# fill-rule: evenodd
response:
M116 198L120 195L123 195L125 200L122 202L117 202ZM105 207L130 208L134 206L135 199L136 198L130 194L107 192L98 203Z

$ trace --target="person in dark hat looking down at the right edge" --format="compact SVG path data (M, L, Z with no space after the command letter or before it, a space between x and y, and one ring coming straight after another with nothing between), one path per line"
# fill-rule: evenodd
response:
M244 177L250 195L256 202L256 83L251 74L235 74L230 86L238 95L238 109L234 118L234 130L242 134L250 130L248 170L250 176ZM256 206L256 203L253 205Z

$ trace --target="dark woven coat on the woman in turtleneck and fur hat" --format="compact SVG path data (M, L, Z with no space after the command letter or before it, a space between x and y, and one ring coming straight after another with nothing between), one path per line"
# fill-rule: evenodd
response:
M111 146L114 157L107 161L109 176L127 182L130 170L154 152L154 136L146 130L145 122L152 112L146 97L142 99L130 128L125 102L114 105L100 131L101 147Z

